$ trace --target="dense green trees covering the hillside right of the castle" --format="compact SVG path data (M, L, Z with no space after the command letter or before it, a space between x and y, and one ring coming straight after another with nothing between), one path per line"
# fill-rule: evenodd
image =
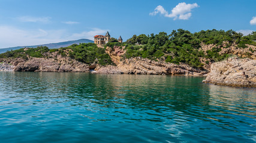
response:
M229 57L228 54L219 55L223 42L227 42L224 48L236 43L239 48L246 48L245 44L256 45L256 32L243 36L233 30L201 30L191 33L188 30L173 30L170 35L160 32L157 35L134 35L127 42L109 42L106 46L125 46L127 50L125 58L143 57L151 60L165 60L170 63L186 63L192 67L202 67L200 58L207 58L212 61L221 61ZM200 43L214 44L215 48L206 51L200 50ZM253 51L254 52L254 51ZM209 61L206 61L209 63Z

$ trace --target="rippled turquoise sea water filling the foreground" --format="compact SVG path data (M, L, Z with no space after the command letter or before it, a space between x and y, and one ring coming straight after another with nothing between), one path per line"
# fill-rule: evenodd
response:
M0 72L0 142L256 142L256 89L204 78Z

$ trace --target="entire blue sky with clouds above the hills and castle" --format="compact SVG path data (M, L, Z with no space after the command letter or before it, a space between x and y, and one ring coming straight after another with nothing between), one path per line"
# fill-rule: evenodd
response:
M0 0L0 48L185 29L256 31L255 0Z

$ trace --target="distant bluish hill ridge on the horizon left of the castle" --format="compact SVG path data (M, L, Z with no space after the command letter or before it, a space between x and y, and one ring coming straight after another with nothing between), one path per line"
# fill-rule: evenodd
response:
M79 39L77 41L65 41L65 42L59 42L59 43L47 43L47 44L43 44L43 45L34 45L34 46L15 46L15 47L11 47L11 48L0 49L0 54L4 53L6 51L11 51L11 50L25 48L25 47L36 48L37 46L47 46L49 49L53 49L53 48L61 48L61 47L70 46L70 45L73 45L74 43L79 44L79 43L92 43L92 42L94 42L94 41L91 41L89 39Z

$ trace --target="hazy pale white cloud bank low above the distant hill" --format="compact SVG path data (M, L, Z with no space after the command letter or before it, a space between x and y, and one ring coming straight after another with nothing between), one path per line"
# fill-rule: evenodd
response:
M94 39L95 35L102 35L107 30L94 28L81 33L69 33L65 29L44 30L33 29L23 30L17 27L0 26L0 48L12 46L40 45L44 43L55 43L78 39Z

